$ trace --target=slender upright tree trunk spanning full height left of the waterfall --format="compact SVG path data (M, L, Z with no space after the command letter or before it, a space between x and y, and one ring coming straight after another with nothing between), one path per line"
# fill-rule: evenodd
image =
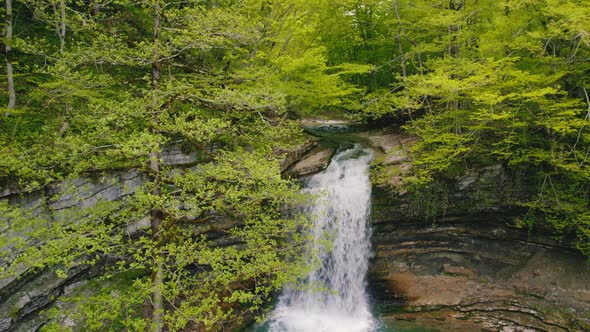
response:
M153 32L153 60L152 60L152 90L154 93L159 88L160 84L160 56L158 50L158 40L160 38L160 2L156 1L154 8L154 32ZM154 94L152 100L152 108L155 110L158 107L157 96ZM156 151L150 152L150 172L153 177L152 195L159 196L160 192L160 154ZM151 212L151 229L152 237L156 246L160 245L161 241L161 227L164 215L162 210L154 208ZM163 269L164 262L161 257L155 257L155 271L152 276L154 282L154 294L152 297L152 332L161 332L164 325L164 301L163 301Z

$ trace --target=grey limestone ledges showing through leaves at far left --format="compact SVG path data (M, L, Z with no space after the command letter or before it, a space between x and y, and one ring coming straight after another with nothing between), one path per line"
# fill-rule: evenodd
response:
M193 165L200 158L199 153L184 153L176 146L162 153L165 165L179 168ZM99 201L122 200L132 195L146 179L145 174L129 169L54 183L44 191L30 192L14 185L5 185L0 188L0 199L31 208L33 217L67 220L76 215L77 209L92 207ZM131 234L142 228L149 228L149 219L130 221L126 231ZM204 229L203 232L210 233L211 230ZM11 248L0 250L10 252ZM0 266L6 263L0 261ZM58 278L51 269L31 273L28 267L22 266L14 275L0 279L0 332L37 330L47 321L39 314L42 310L53 305L71 285L90 279L99 272L100 266L74 266L67 271L66 278Z

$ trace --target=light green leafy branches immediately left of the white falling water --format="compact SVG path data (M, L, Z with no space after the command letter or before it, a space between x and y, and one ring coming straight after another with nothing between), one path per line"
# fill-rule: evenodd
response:
M169 240L155 242L147 229L135 235L139 238L107 237L101 257L112 263L95 281L98 289L82 289L82 295L66 299L75 302L69 314L88 330L143 330L148 323L142 308L154 287L149 271L158 260L165 266L161 288L170 330L229 328L245 312L262 314L272 292L295 282L306 268L300 254L306 238L296 232L306 221L280 213L299 194L277 168L275 160L258 153L225 152L215 164L168 179L177 188L169 194L131 196L109 223L128 227L156 205L167 213L160 236ZM215 233L221 238L208 235ZM57 247L68 257L75 255Z

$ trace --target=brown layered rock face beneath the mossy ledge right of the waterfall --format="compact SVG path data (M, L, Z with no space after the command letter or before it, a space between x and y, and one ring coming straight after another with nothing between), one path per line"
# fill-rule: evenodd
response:
M588 331L590 265L495 214L375 225L369 288L395 329ZM479 327L479 329L478 329Z

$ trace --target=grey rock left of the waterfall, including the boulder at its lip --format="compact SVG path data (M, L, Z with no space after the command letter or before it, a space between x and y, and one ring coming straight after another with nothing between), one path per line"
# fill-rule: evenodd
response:
M316 139L310 138L303 145L292 151L276 151L285 155L281 170L286 170L296 163L293 168L300 175L318 172L327 167L333 150L317 147ZM303 157L305 156L305 157ZM171 172L181 174L181 170L203 160L203 153L199 151L183 151L181 146L173 145L164 149L162 161L166 166L172 166ZM302 160L303 158L303 160ZM0 199L9 200L11 204L18 204L33 209L34 216L45 216L48 219L62 220L75 215L80 208L94 206L99 201L116 201L125 199L135 193L143 184L147 176L136 169L114 171L106 174L89 175L48 186L44 191L26 191L15 185L0 185ZM128 236L149 228L149 217L130 220L125 232ZM227 230L235 227L234 222L215 220L211 224L202 224L196 232L206 234L212 245L227 246L229 242ZM0 248L0 250L11 250ZM17 254L17 253L15 253ZM0 266L6 262L0 261ZM4 331L34 331L47 322L47 318L40 312L56 304L56 299L68 292L75 292L80 284L100 273L100 266L74 266L67 271L66 278L57 278L55 271L46 269L31 273L27 266L22 266L14 275L0 279L0 332ZM60 305L58 303L58 305ZM72 325L71 319L64 317L64 327ZM65 325L64 325L65 324Z

